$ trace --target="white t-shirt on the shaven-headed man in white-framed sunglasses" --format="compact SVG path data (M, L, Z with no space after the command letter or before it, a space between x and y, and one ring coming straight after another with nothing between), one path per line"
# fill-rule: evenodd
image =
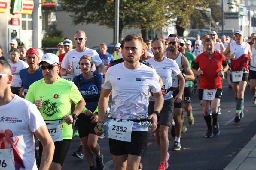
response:
M96 66L99 66L102 63L99 54L95 50L92 50L90 48L85 48L83 52L77 52L76 49L69 51L63 58L61 67L66 69L68 64L72 65L71 80L73 80L76 75L80 75L82 73L79 65L79 60L83 55L91 56L93 59L93 63L95 63ZM93 67L91 70L93 71Z

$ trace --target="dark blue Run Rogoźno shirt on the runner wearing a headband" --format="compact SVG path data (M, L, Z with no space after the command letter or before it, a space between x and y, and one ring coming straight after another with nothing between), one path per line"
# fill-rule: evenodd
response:
M73 79L73 82L75 83L75 85L78 87L78 81L77 81L77 77L78 76L75 76L74 79ZM83 84L81 85L80 84L80 93L82 94L82 96L86 97L84 98L85 102L86 102L86 108L88 110L91 110L91 112L94 112L98 106L98 102L88 102L90 101L90 99L95 99L95 98L99 98L100 94L99 92L101 91L101 84L102 84L102 81L103 81L103 76L99 73L96 73L96 80L97 80L97 84L98 86L96 86L96 84L93 83L93 78L90 78L90 79L85 79L83 77L83 74L80 74L80 78L81 78L81 81L82 82L90 82L90 83L87 83L87 84ZM82 116L82 117L91 117L91 116L86 116L85 114L81 113L79 116Z

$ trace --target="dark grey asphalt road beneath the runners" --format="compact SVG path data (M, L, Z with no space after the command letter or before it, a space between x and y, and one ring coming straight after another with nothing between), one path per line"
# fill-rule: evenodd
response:
M233 119L236 111L236 103L232 89L228 89L227 80L223 83L223 95L221 99L221 115L218 117L220 135L205 138L207 131L203 118L202 107L198 95L193 94L193 115L195 124L187 125L187 116L184 116L187 132L181 135L181 150L171 151L174 139L169 129L169 153L168 169L190 170L222 170L238 154L238 152L256 134L256 105L251 103L252 93L250 88L245 90L244 113L245 116L239 123ZM186 114L185 114L186 115ZM107 121L107 117L105 117ZM150 134L150 133L149 133ZM99 139L101 153L104 155L105 170L114 169L112 157L109 153L108 139ZM73 151L80 145L79 137L74 137L66 155L63 170L89 169L85 158L78 159L72 156ZM144 170L155 170L160 164L160 152L154 137L148 137L147 154L141 160Z

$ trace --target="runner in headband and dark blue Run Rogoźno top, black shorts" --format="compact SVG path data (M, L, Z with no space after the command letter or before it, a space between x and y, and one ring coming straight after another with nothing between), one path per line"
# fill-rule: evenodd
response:
M94 127L98 122L98 100L103 77L101 74L91 71L93 61L90 56L82 56L79 63L82 74L75 76L73 82L83 96L86 107L78 116L76 127L82 142L83 153L90 169L96 169L93 162L92 153L94 153L97 170L103 170L103 155L100 153L100 147L97 143L99 137L94 131Z

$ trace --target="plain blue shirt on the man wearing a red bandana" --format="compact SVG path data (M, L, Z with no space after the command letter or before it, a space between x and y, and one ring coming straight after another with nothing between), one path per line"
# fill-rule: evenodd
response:
M20 70L20 79L22 82L21 86L24 87L24 89L23 89L24 98L28 92L29 86L31 84L33 84L35 81L38 81L38 80L44 78L44 76L42 74L42 69L40 66L39 66L39 69L36 70L36 72L34 72L32 74L28 73L28 69L29 69L29 67L26 69Z

